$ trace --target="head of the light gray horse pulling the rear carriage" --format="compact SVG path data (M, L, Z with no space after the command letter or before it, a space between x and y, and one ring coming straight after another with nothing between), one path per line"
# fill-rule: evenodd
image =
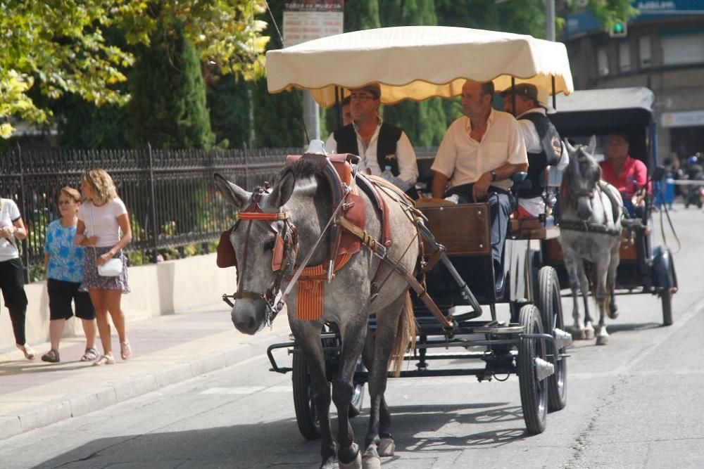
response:
M570 165L562 177L562 195L567 203L567 207L563 207L572 207L577 216L586 221L593 214L594 189L601 179L601 167L592 156L596 148L596 137L591 137L589 146L573 147L565 140L565 148L570 154Z

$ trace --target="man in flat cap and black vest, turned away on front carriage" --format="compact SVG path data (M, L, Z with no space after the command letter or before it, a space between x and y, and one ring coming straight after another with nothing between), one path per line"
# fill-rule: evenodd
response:
M554 113L555 110L539 100L538 88L534 84L517 84L513 89L501 91L501 97L503 110L507 113L514 112L515 103L516 119L528 152L527 179L531 181L531 188L518 192L518 217L538 217L539 214L545 213L541 172L548 165L565 169L570 157L562 145L560 134L546 115Z

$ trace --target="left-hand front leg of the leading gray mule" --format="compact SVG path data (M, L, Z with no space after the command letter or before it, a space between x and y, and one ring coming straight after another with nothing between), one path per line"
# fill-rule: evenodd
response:
M320 422L320 456L321 469L334 468L337 448L330 430L330 387L325 374L325 354L320 342L320 323L316 321L297 321L289 318L291 332L296 342L301 345L306 356L306 366L310 373L310 387L315 403L315 411Z

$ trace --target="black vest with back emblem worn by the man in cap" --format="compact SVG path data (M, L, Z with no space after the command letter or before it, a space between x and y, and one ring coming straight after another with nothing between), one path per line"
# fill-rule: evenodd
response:
M557 165L562 154L562 142L558 129L547 116L541 113L527 113L518 117L519 120L526 119L533 122L535 129L538 131L540 145L543 150L540 153L528 153L528 176L531 181L531 188L521 189L518 191L519 197L531 198L537 197L543 193L541 187L541 172L547 165Z

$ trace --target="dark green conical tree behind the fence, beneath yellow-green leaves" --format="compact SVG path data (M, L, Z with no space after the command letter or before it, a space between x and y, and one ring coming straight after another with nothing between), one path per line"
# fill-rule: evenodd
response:
M139 51L130 88L133 146L213 146L201 63L178 25L156 30L149 47Z

